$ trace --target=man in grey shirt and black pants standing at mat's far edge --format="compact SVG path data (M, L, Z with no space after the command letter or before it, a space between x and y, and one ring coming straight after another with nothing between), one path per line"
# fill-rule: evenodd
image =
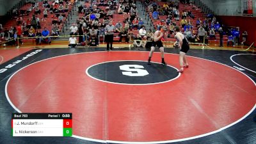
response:
M106 29L107 51L109 51L109 45L110 45L110 50L112 51L114 31L115 31L115 26L112 25L112 21L108 23L105 29Z

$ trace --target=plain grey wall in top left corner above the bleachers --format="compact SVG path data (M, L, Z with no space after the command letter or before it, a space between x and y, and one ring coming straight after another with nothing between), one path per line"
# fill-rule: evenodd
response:
M0 16L5 15L15 4L19 3L20 0L0 0Z

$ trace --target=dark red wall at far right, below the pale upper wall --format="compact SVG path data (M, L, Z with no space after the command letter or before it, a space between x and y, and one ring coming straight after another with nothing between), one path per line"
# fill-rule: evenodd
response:
M247 43L250 45L256 43L256 19L255 17L239 17L239 16L218 16L217 19L221 20L227 26L235 26L240 28L240 41L242 40L243 31L248 32ZM256 44L255 44L256 45Z

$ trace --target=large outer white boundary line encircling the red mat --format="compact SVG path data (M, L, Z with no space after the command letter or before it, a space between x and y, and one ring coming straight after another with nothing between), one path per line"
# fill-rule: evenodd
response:
M95 51L95 52L106 52L106 51ZM148 52L148 51L111 51L111 52ZM76 53L76 54L85 54L85 53L92 53L92 52L81 52L81 53ZM160 53L160 52L157 52L157 53ZM165 53L165 54L172 54L172 53ZM68 55L74 55L74 54L65 54L65 55L61 55L61 56L68 56ZM179 55L179 54L174 54L174 55ZM61 56L55 56L55 57L52 57L52 58L59 58ZM188 57L191 57L191 58L196 58L195 56L188 56ZM50 60L52 58L47 58L45 60ZM206 60L206 61L212 61L212 60L207 60L207 59L204 59L204 58L198 58L200 60ZM40 60L40 61L45 61L45 60ZM39 63L40 61L36 61L35 63ZM212 61L214 63L218 63L220 65L224 65L223 63L219 63L219 62L216 62L216 61ZM31 63L29 65L27 65L26 67L29 67L30 65L33 65L35 63ZM228 65L224 65L226 67L229 67L229 68L232 68L234 70L236 70L237 72L241 72L239 70L237 70L236 68L233 68L233 67L230 67ZM19 70L17 70L17 72L19 72L20 70L22 70L23 68L26 68L26 67L22 67L20 68ZM10 79L12 79L12 77L17 74L17 72L13 73L12 76L9 77L8 81L6 82L6 85L5 85L5 95L6 95L6 99L8 100L8 102L10 103L10 105L12 106L13 109L15 109L15 111L19 112L19 113L22 113L19 109L17 109L14 104L12 103L12 101L10 100L9 96L8 96L8 92L7 92L7 87L8 87L8 83L10 82ZM241 72L241 74L243 74L244 76L248 77L252 82L253 84L256 86L256 83L255 81L253 81L249 76L247 76L246 74L244 74L243 72ZM92 138L84 138L84 137L81 137L81 136L76 136L76 135L73 135L72 137L74 138L79 138L81 140L87 140L87 141L95 141L95 142L99 142L99 143L125 143L125 144L154 144L154 143L173 143L173 142L178 142L178 141L186 141L186 140L193 140L193 139L196 139L196 138L202 138L204 136L209 136L211 134L215 134L217 132L220 132L220 131L223 131L225 129L227 129L228 127L231 127L232 125L235 125L237 124L238 122L241 122L244 118L246 118L248 115L250 115L254 109L256 108L256 104L253 106L253 108L246 114L244 115L242 118L240 118L239 120L237 120L236 122L233 122L232 124L229 124L225 127L222 127L221 129L218 129L216 131L212 131L212 132L208 132L206 134L201 134L201 135L198 135L198 136L193 136L193 137L189 137L189 138L182 138L182 139L179 139L179 140L167 140L167 141L145 141L145 142L136 142L136 141L111 141L111 140L97 140L97 139L92 139Z

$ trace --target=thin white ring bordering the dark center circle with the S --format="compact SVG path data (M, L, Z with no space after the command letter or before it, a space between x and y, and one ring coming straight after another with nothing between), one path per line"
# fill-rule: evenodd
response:
M147 61L141 61L141 60L120 60L120 61L140 61L140 62L147 62ZM105 62L102 62L102 63L112 63L112 62L118 62L118 61L105 61ZM95 64L95 65L100 65L100 64L102 64L102 63L97 63L97 64ZM152 63L157 63L157 62L152 62ZM161 63L157 63L157 64L160 64L160 65L161 65ZM177 73L179 73L177 77L174 77L173 79L169 79L168 81L162 81L162 82L159 82L159 83L146 83L146 84L115 83L115 82L111 82L111 81L104 81L104 80L102 80L102 79L97 79L97 78L91 76L91 75L88 73L88 70L89 70L90 68L94 67L95 65L92 65L92 66L86 68L85 73L86 73L89 77L91 77L92 79L96 79L96 80L98 80L98 81L102 81L102 82L105 82L105 83L112 83L112 84L124 84L124 85L136 85L136 86L140 86L140 85L151 85L151 84L161 84L161 83L168 83L168 82L170 82L170 81L174 81L175 79L178 79L178 78L180 77L180 72L177 72ZM166 65L166 66L172 67L171 65ZM178 70L178 69L175 68L175 67L172 67L172 68L174 68L175 70Z

